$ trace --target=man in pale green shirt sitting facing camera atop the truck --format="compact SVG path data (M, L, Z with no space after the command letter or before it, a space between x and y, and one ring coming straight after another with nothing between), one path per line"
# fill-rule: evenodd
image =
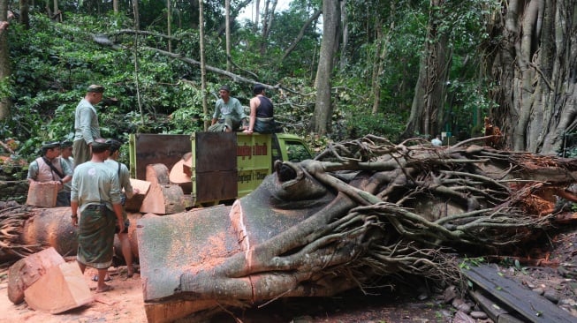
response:
M229 86L220 86L220 99L216 100L215 113L209 131L239 131L243 120L247 119L240 101L231 96Z

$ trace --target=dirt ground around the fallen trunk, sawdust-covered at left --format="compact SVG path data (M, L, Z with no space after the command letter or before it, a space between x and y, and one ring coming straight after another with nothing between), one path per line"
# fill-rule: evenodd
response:
M529 289L549 291L557 298L559 307L573 315L577 322L577 226L559 229L546 235L526 251L527 259L543 259L543 266L525 266L522 263L501 262L502 272ZM87 269L85 279L95 287ZM95 302L61 314L35 312L26 303L14 305L7 297L7 268L0 269L0 322L147 322L142 299L140 274L127 278L125 267L113 269L114 289L95 294ZM259 323L259 322L492 322L490 319L455 319L457 310L444 302L444 297L423 295L410 286L394 290L381 289L367 296L351 291L338 297L292 298L254 306L247 310L222 312L205 319L204 323ZM474 311L478 310L474 308ZM181 319L195 322L198 319Z

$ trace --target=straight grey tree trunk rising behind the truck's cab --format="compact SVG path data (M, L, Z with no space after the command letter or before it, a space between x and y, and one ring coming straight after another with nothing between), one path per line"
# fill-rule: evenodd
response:
M338 29L340 23L340 1L323 0L323 41L319 64L316 70L315 112L311 122L311 131L324 135L330 129L332 104L330 98L330 78L334 64L335 49L338 48Z

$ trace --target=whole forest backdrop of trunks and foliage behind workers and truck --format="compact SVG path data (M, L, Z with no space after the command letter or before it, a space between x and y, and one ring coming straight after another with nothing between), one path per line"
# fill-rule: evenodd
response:
M195 1L0 0L0 139L27 159L70 139L92 83L107 88L102 136L192 133L219 86L247 106L259 82L284 130L313 146L367 134L446 143L482 135L488 116L506 148L571 152L572 1L226 3L202 2L201 31Z

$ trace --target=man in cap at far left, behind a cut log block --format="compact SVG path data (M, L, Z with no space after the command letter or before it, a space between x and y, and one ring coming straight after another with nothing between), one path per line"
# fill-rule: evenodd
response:
M64 185L72 180L72 169L62 163L60 154L60 142L50 141L42 145L41 156L36 158L28 166L28 183L49 183L58 185L57 207L70 206L68 194L64 191Z

